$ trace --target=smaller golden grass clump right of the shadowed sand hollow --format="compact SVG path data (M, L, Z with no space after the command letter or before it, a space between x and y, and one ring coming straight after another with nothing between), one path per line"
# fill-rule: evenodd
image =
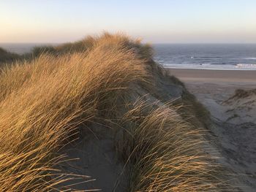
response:
M233 191L211 156L206 131L182 120L179 107L152 109L138 101L131 108L120 141L125 143L121 151L131 173L130 191Z

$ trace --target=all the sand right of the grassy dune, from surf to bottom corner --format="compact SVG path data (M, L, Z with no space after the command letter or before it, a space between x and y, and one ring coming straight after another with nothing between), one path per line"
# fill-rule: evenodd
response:
M237 89L256 88L256 71L169 69L211 112L211 131L223 164L242 191L256 190L256 94L232 98ZM231 98L231 99L230 99Z

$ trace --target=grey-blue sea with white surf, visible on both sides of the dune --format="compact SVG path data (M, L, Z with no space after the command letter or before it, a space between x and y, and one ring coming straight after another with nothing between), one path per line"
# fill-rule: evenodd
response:
M0 43L10 52L29 53L39 43ZM154 60L166 68L256 70L256 44L154 44Z

